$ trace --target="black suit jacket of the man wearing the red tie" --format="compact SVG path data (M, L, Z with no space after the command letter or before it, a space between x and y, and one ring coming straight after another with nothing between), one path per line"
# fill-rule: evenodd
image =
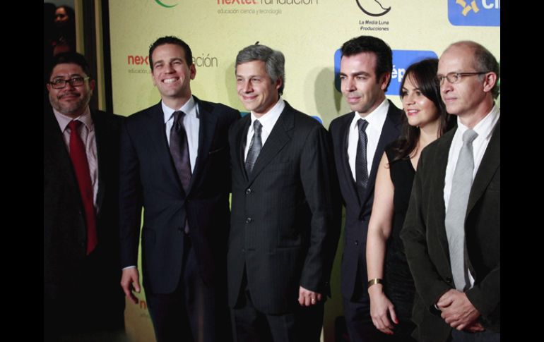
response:
M124 294L119 291L121 271L117 204L119 129L124 117L104 111L90 112L97 145L98 243L87 257L87 228L76 174L59 123L51 107L45 106L43 258L45 314L57 312L77 317L80 311L96 312L95 322L79 323L82 326L93 324L100 326L102 323L102 326L107 326L113 324L112 320L122 319L124 310ZM83 303L82 298L87 298L87 301ZM66 309L67 307L69 309Z

